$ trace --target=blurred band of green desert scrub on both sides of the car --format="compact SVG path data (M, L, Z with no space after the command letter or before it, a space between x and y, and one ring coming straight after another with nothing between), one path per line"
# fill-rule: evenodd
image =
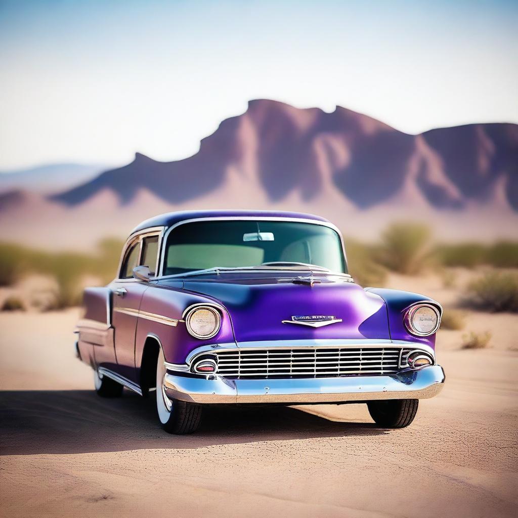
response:
M77 305L87 278L89 284L106 284L114 277L122 244L118 239L105 239L99 243L96 253L89 255L42 252L0 243L0 286L12 287L27 276L43 275L52 279L53 284L47 287L43 303L31 301L30 306L60 309ZM431 270L441 276L444 287L454 287L457 280L451 267L493 267L492 271L469 284L464 305L485 311L518 311L518 274L513 270L518 268L518 243L434 245L428 227L395 223L385 229L378 243L346 239L346 248L351 275L362 286L383 286L391 271L416 275ZM504 267L506 270L500 271ZM9 296L16 298L17 293ZM19 305L7 300L2 304L6 310L27 306L19 301ZM445 312L444 329L463 326L462 313Z

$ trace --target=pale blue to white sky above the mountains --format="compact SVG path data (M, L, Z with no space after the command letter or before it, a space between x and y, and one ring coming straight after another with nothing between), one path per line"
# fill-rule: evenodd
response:
M0 170L190 156L250 99L518 123L518 2L0 0Z

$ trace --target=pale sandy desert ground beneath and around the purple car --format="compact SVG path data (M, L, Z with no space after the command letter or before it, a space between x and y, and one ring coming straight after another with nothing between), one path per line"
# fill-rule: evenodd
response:
M415 282L392 284L453 302ZM78 314L0 314L1 516L516 516L516 316L469 314L490 349L440 332L447 384L406 429L325 405L212 411L177 437L152 400L95 395Z

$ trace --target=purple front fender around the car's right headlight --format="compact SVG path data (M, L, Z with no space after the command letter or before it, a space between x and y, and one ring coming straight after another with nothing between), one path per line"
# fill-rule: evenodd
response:
M389 318L389 333L392 340L407 340L425 343L435 349L436 334L430 336L415 336L408 332L405 326L404 317L410 306L418 302L433 304L442 314L442 306L434 299L419 293L412 293L400 290L389 290L385 288L365 288L365 291L379 295L386 304L387 316Z

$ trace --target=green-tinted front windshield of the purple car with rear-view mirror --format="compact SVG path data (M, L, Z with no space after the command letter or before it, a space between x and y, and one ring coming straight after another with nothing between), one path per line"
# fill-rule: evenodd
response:
M347 273L340 237L332 228L291 221L224 220L174 228L165 245L164 275L264 263L293 268L296 265L290 263L304 263Z

